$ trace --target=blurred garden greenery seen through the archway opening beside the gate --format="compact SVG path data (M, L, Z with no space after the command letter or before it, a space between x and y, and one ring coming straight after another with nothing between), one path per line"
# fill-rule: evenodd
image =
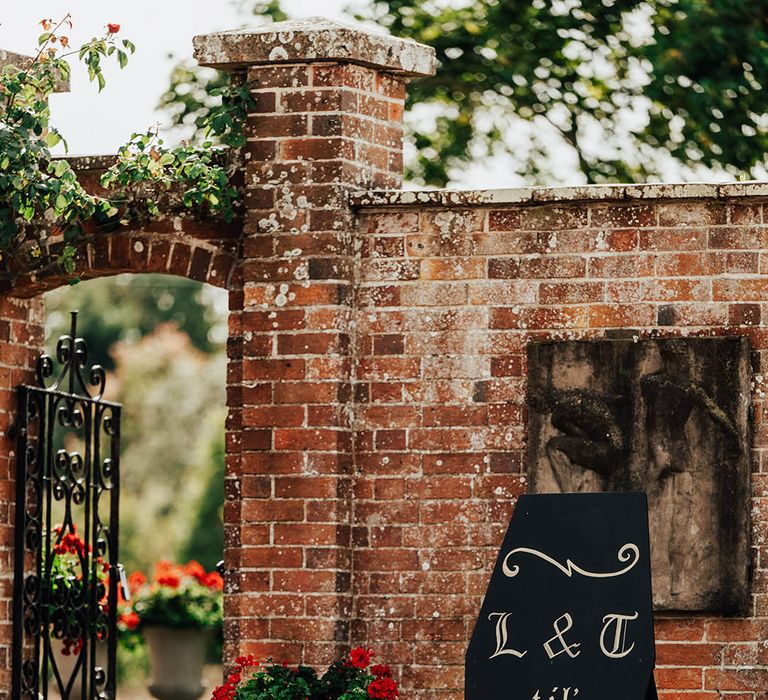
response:
M48 351L78 310L89 362L107 369L106 396L123 404L126 571L151 576L162 560L214 569L224 537L226 291L167 275L118 275L49 292L45 304ZM121 697L150 697L146 648L136 645L140 637L129 641L118 654ZM216 637L210 687L221 678L219 655Z

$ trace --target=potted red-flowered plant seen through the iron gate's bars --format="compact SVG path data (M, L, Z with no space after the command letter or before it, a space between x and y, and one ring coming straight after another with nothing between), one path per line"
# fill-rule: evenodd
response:
M74 523L66 527L59 525L54 528L54 533L50 576L47 577L48 623L52 637L49 678L58 686L60 694L63 695L69 687L70 697L76 697L80 694L83 664L79 661L86 638L84 611L91 593L90 586L86 585L89 581L86 554L90 554L92 548L86 547ZM97 603L91 626L96 638L103 642L107 629L109 565L101 556L96 557L95 572L92 583L96 586ZM104 667L106 659L106 644L100 642L96 645L96 664Z

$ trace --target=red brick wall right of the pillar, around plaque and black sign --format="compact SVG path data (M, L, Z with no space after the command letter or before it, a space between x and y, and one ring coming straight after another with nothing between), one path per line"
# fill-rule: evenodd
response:
M362 207L358 234L353 629L398 664L405 696L462 697L526 490L526 343L631 328L752 341L752 615L659 615L656 677L665 698L768 697L760 200Z

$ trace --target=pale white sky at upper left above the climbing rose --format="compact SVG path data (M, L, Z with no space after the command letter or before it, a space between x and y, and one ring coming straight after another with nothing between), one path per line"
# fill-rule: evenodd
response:
M56 126L69 142L71 154L114 153L134 131L161 118L155 105L168 85L171 66L192 56L192 37L235 29L248 18L230 0L0 0L0 48L31 54L41 33L39 21L72 14L71 43L79 46L100 35L107 22L121 25L119 36L136 44L124 70L109 70L107 87L99 94L84 70L73 62L72 92L51 101ZM292 17L322 14L342 19L345 0L283 0ZM169 59L173 54L175 59Z

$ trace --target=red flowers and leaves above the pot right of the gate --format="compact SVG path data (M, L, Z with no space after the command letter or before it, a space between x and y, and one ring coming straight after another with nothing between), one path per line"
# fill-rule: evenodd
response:
M224 581L198 562L185 565L159 561L152 580L136 571L128 577L130 602L120 608L123 631L144 627L196 627L221 625Z

